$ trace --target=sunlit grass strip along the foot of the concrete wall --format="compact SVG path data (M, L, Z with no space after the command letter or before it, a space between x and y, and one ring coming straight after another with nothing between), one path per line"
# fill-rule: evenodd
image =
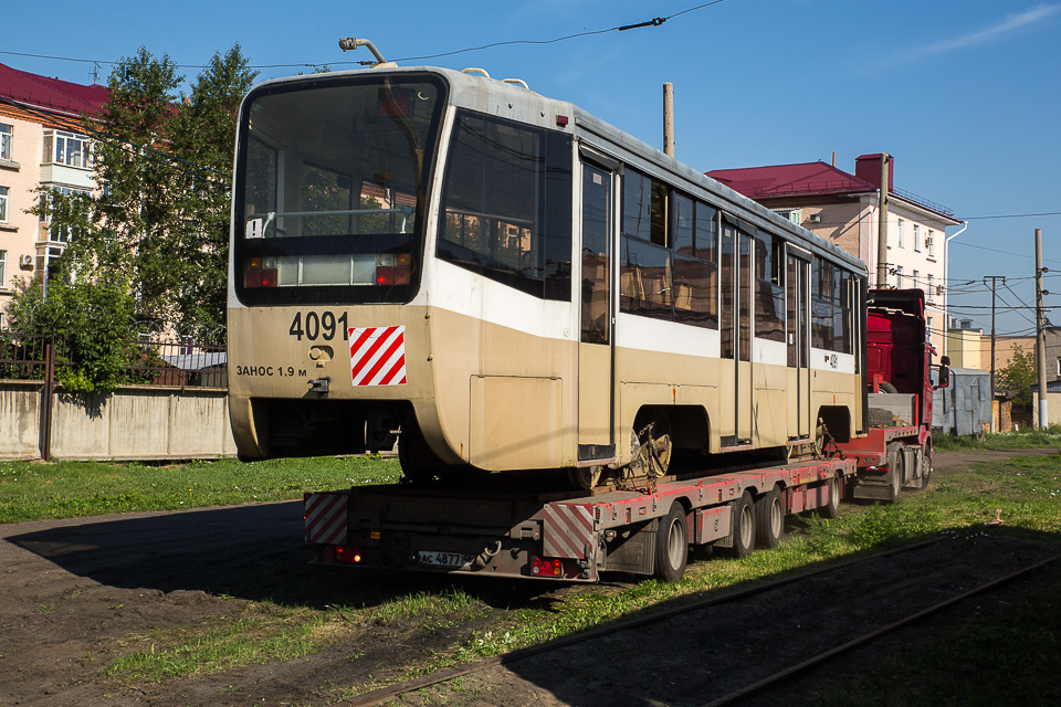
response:
M288 500L322 488L392 483L400 475L397 461L376 457L166 466L0 462L0 523Z

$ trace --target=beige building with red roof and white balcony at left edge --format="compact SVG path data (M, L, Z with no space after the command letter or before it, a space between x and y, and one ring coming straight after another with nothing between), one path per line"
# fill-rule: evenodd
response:
M107 89L0 64L0 327L17 282L48 270L69 234L27 213L38 187L92 191L92 140L82 116L98 115Z

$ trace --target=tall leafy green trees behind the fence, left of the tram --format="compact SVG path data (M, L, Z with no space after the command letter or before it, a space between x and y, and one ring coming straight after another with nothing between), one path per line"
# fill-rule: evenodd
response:
M254 76L239 44L214 54L189 96L167 55L141 46L115 65L102 120L85 122L107 188L41 188L33 209L70 236L67 271L127 282L141 319L200 338L223 330L235 112Z

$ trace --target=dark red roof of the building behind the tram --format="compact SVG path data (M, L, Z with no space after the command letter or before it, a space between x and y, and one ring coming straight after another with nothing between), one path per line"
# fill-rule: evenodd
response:
M876 191L876 186L826 162L715 169L707 172L749 199Z

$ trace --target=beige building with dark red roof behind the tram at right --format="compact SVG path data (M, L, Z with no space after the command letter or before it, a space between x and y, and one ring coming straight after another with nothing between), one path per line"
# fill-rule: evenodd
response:
M882 157L857 158L854 175L819 161L716 169L707 176L858 255L875 287ZM886 286L925 292L932 344L943 354L948 320L946 229L963 222L948 209L896 189L894 157L889 165Z

